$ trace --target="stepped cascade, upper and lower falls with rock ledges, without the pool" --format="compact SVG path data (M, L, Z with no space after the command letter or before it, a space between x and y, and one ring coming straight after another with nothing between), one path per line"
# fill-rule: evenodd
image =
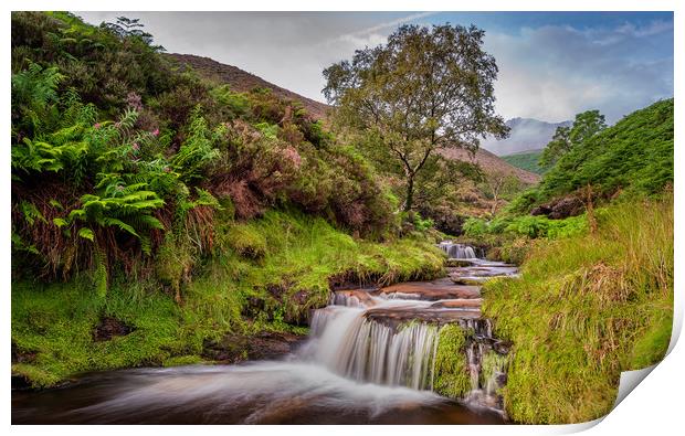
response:
M481 313L479 287L459 281L515 277L518 270L477 258L476 251L464 244L446 241L440 247L470 263L429 283L333 293L329 306L313 313L310 337L299 359L360 383L433 391L435 377L442 376L435 373L441 331L457 325L464 332L461 350L471 380L471 390L461 400L502 413L510 344L493 337L492 321Z

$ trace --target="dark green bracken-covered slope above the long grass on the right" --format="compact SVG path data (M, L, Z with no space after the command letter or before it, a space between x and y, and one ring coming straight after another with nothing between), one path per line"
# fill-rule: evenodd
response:
M673 99L636 110L608 128L601 128L602 123L579 132L581 142L570 147L540 184L515 199L508 211L526 213L588 185L596 196L623 192L630 198L658 194L673 184Z

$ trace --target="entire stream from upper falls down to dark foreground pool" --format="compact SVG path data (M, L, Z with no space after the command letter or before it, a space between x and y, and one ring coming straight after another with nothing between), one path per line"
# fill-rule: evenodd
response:
M281 360L85 374L61 389L12 391L12 424L504 424L505 355L481 316L479 283L517 268L440 244L459 266L433 281L337 290L309 338ZM440 330L470 332L471 392L433 392ZM500 359L503 361L504 359ZM497 360L495 360L497 361ZM492 366L492 365L491 365Z

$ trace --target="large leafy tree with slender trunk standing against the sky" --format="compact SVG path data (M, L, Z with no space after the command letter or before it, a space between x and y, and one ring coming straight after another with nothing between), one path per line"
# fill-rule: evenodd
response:
M405 211L417 174L436 150L475 152L479 138L508 132L495 115L497 65L482 49L484 34L473 25L403 25L387 44L324 71L337 124L375 138L405 181Z

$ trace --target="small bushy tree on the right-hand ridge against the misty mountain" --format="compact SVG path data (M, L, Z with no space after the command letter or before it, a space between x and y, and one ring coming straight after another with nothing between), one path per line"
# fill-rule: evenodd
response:
M588 138L607 128L604 116L599 110L587 110L576 115L573 126L557 127L551 141L540 156L539 166L550 167L573 147L583 143Z

